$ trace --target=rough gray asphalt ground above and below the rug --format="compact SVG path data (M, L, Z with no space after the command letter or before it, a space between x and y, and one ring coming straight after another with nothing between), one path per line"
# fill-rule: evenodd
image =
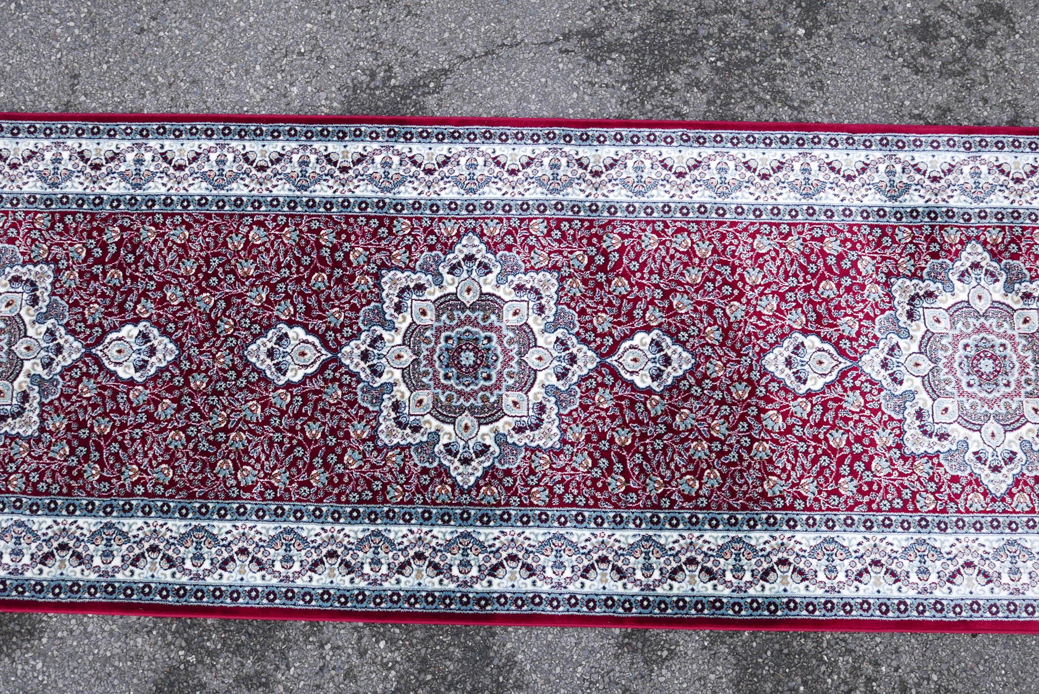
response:
M1034 2L0 0L0 110L1039 124ZM1023 636L0 615L0 692L1030 692Z

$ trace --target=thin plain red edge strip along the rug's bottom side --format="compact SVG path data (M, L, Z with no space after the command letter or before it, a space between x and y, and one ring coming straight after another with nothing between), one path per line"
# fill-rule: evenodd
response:
M133 603L48 603L0 600L0 613L91 614L135 617L194 617L278 621L350 621L392 624L477 627L595 627L601 629L675 629L699 631L860 632L917 634L1039 634L1028 620L829 619L807 617L656 617L609 615L454 615L443 612L343 612L278 607L142 606Z

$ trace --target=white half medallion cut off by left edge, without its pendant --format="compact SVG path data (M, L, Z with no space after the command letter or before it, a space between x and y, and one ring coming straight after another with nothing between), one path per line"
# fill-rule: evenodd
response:
M0 246L0 435L31 437L41 402L61 392L59 374L83 344L62 327L68 307L51 297L51 268L21 261L17 249Z

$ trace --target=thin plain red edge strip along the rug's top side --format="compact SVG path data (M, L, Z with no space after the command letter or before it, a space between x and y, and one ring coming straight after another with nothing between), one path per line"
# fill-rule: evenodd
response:
M456 126L489 128L661 128L690 130L791 131L848 134L905 135L1039 135L1024 126L925 126L899 123L771 122L756 120L636 120L611 118L499 118L473 116L292 115L269 113L61 113L0 112L0 120L60 122L229 122L309 126Z

